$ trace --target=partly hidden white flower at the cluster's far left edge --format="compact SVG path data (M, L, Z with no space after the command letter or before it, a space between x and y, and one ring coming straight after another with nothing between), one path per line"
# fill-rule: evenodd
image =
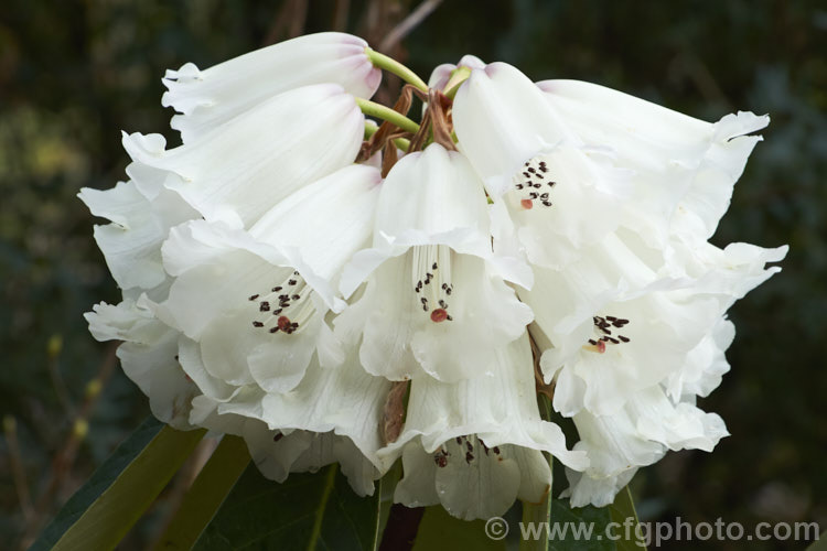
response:
M92 214L111 220L95 226L95 241L118 287L142 291L164 287L161 244L171 227L197 213L174 192L162 190L147 197L132 181L106 191L84 187L77 196Z

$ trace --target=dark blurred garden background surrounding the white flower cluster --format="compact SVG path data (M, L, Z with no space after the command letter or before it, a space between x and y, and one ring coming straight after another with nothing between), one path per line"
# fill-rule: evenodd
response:
M732 436L712 454L669 454L638 474L633 491L644 520L722 517L750 529L761 521L817 521L827 529L823 1L6 0L3 547L29 541L149 413L111 346L93 341L83 320L92 304L119 298L92 239L96 220L75 197L78 190L108 188L125 179L121 130L162 132L168 143L180 143L169 130L172 111L160 105L164 69L185 62L204 68L323 30L359 34L426 79L436 65L473 53L515 64L536 80L590 80L710 121L739 109L770 114L765 141L713 238L718 245L791 246L783 272L732 309L732 371L701 403L723 417ZM398 86L386 78L379 99L393 102ZM179 478L123 549L142 549L157 537L186 472ZM750 544L801 548L792 541Z

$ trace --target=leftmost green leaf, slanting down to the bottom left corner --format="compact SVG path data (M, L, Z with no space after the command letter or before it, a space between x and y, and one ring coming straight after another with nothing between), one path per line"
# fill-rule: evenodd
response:
M144 421L61 509L30 548L114 549L204 435Z

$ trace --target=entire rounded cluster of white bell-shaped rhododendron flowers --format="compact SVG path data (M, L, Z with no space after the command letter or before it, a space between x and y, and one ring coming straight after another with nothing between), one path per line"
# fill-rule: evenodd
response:
M380 69L421 123L411 87L369 100ZM128 181L79 194L123 294L89 329L160 420L243 436L278 482L339 463L365 496L400 463L397 503L462 519L544 503L551 460L609 505L728 435L697 398L787 248L708 239L769 117L471 55L426 85L341 33L163 82L183 144L125 133Z

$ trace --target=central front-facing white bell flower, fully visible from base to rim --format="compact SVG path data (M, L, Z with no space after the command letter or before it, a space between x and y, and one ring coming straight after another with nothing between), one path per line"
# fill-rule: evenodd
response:
M391 380L459 380L490 370L495 350L525 332L530 310L504 277L528 285L513 259L494 258L482 183L459 153L431 144L394 165L379 194L373 248L342 274L350 296L335 320L362 339L365 369Z

